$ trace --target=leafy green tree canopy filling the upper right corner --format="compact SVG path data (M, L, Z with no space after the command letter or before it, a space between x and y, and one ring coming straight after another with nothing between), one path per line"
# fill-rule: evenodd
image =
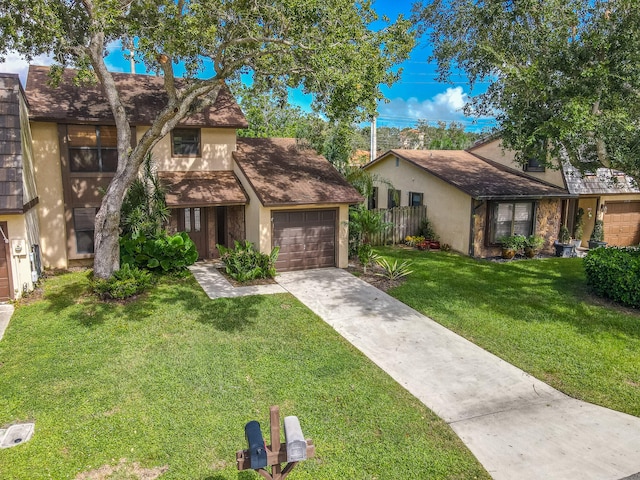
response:
M495 115L519 160L640 179L635 0L431 0L415 11L441 80L488 82L466 113Z

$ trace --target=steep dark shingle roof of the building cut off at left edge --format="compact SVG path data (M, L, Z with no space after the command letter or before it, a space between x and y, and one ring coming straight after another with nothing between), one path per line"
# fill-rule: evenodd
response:
M0 213L24 208L20 95L18 75L0 73Z

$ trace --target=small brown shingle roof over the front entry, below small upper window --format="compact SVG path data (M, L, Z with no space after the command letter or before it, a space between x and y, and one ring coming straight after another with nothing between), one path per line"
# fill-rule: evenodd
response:
M248 202L240 181L233 172L159 172L167 188L170 207L207 205L244 205Z

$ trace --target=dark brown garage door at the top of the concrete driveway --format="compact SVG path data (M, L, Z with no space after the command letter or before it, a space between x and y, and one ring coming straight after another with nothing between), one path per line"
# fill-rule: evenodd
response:
M335 267L335 210L272 212L273 246L280 247L276 269Z

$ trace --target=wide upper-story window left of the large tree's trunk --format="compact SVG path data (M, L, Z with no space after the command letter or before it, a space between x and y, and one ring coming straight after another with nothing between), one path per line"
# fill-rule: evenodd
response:
M118 168L116 127L67 125L72 172L115 172Z

